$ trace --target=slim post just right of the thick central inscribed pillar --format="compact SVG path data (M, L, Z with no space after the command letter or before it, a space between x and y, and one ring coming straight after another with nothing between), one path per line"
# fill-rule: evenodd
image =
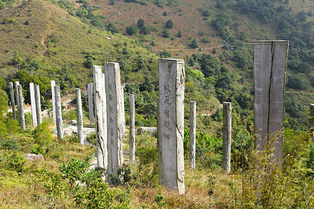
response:
M188 163L195 169L195 140L196 140L196 102L190 102L190 132Z

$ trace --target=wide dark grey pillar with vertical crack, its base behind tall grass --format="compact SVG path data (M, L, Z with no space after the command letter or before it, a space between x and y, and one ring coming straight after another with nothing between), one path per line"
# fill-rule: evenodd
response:
M257 150L264 150L269 139L274 139L273 162L283 162L283 102L287 40L254 42L254 127Z

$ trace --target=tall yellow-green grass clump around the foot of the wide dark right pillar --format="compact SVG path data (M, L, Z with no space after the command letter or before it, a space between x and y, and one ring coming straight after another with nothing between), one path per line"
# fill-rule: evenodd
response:
M274 138L264 150L246 153L246 167L234 171L228 183L232 208L313 208L314 181L308 167L308 132L285 130L283 164L272 160Z

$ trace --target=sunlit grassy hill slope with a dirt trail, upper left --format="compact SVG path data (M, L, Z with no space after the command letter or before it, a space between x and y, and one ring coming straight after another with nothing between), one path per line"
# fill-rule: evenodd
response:
M66 79L73 89L91 82L93 64L124 59L121 68L131 68L138 54L145 54L143 60L153 58L151 65L156 65L157 57L134 40L92 29L47 1L6 7L0 10L0 22L3 77L13 78L17 70L27 70L57 82ZM126 47L128 59L121 53Z

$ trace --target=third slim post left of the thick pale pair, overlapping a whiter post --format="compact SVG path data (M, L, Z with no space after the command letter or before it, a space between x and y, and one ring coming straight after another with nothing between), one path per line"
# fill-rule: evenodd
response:
M63 127L62 127L62 107L61 107L61 96L60 87L54 86L54 107L56 110L56 125L57 125L57 137L61 141L63 139Z

